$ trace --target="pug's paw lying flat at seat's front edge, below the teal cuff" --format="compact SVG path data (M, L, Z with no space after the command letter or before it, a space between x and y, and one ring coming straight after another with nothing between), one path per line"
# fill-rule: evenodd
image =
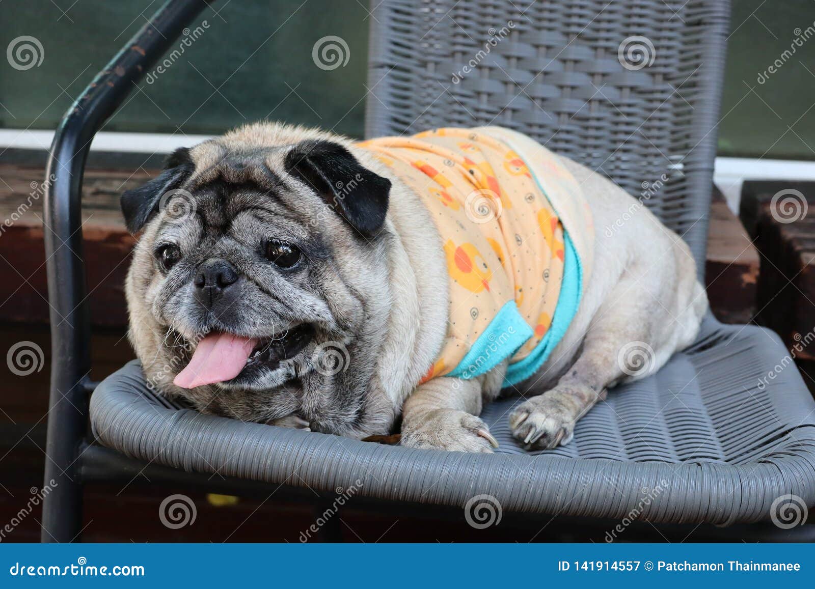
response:
M475 415L454 409L430 411L425 419L403 424L402 446L491 453L498 441Z

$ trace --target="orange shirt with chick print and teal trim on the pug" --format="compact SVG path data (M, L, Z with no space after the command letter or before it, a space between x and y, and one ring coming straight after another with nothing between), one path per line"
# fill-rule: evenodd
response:
M531 376L571 322L590 268L591 213L575 178L552 152L497 127L359 147L416 191L442 235L450 323L425 379L472 378L508 358L506 384Z

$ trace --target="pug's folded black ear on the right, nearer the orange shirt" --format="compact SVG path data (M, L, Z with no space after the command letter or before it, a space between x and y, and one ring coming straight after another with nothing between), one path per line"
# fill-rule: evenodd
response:
M345 147L306 141L293 147L284 165L363 235L375 234L385 223L390 180L364 168Z

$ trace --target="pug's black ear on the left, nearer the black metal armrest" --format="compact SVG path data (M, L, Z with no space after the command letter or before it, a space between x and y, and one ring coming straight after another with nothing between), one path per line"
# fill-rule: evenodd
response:
M156 178L121 195L121 213L125 216L127 231L139 231L158 210L161 196L180 187L195 169L187 147L176 149L167 158L164 171Z

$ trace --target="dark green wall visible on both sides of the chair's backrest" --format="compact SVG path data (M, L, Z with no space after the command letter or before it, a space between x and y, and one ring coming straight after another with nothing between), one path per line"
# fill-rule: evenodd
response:
M0 2L0 48L33 35L44 51L42 65L25 71L0 59L0 126L53 129L70 97L160 4L72 2ZM105 130L214 134L270 118L359 136L370 20L363 5L368 0L216 2L221 11L203 16L208 28ZM721 155L815 159L815 36L803 40L815 33L813 21L813 0L734 0ZM324 71L312 48L328 35L346 41L348 61ZM783 55L791 46L795 54ZM769 73L776 59L783 63Z

